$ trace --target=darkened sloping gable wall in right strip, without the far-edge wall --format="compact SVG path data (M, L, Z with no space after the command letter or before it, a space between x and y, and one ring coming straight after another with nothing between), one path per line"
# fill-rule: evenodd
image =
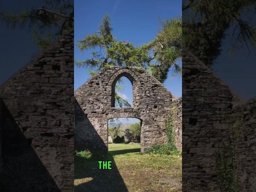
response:
M230 126L228 86L190 52L182 56L182 191L219 191L216 152Z

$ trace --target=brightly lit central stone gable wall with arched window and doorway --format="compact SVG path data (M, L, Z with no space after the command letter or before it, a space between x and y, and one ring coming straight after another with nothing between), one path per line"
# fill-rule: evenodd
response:
M116 81L126 76L133 85L133 108L114 107ZM101 70L74 93L79 111L75 138L80 146L107 150L108 119L133 117L142 120L141 150L167 142L164 120L170 112L172 94L143 68L109 67ZM86 126L90 125L90 126ZM98 139L95 139L98 138ZM92 142L90 142L92 141Z

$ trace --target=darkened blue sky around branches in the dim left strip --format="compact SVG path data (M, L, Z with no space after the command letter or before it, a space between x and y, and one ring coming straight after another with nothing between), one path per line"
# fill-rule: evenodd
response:
M15 6L14 6L15 5ZM0 1L0 9L10 12L30 10L40 8L44 5L43 0L24 1L10 0ZM15 29L6 28L5 24L0 24L1 38L1 75L0 84L8 80L15 72L20 70L38 53L37 44L33 41L31 28L16 27Z

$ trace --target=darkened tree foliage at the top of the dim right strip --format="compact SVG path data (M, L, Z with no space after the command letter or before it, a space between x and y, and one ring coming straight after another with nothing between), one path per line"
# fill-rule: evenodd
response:
M182 41L207 66L211 67L222 50L222 40L231 29L231 50L256 46L256 28L249 21L255 13L255 0L189 0L182 6ZM247 16L246 16L247 14Z

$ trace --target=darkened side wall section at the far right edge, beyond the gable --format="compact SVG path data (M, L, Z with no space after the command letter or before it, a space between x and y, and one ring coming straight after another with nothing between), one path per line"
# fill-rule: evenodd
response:
M234 108L235 164L241 192L256 188L256 98Z

